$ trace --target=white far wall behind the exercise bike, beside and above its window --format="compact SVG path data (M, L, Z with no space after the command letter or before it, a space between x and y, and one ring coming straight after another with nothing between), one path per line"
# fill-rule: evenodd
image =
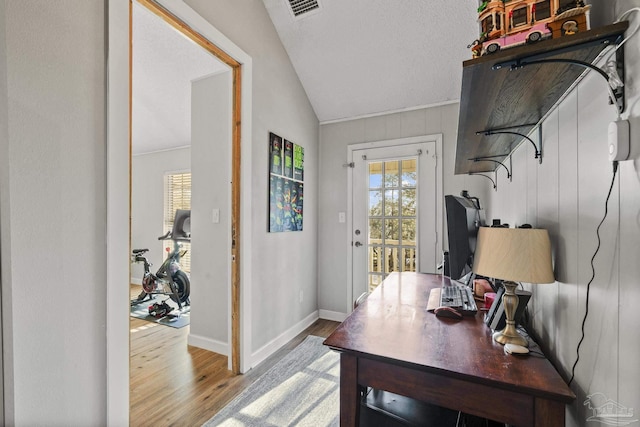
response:
M139 154L131 158L131 248L147 248L147 258L156 271L165 258L164 176L191 170L191 148ZM144 268L131 264L131 282L140 284Z

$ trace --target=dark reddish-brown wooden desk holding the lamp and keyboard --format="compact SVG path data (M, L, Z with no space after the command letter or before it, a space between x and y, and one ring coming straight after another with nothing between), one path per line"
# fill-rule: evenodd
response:
M575 395L547 359L504 354L481 312L427 312L442 280L393 273L325 340L341 353L340 425L358 425L369 386L518 427L564 426Z

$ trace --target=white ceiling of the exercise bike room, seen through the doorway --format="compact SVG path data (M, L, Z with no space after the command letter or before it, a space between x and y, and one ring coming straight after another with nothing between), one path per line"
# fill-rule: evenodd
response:
M191 144L191 81L226 67L148 9L133 8L133 154Z

